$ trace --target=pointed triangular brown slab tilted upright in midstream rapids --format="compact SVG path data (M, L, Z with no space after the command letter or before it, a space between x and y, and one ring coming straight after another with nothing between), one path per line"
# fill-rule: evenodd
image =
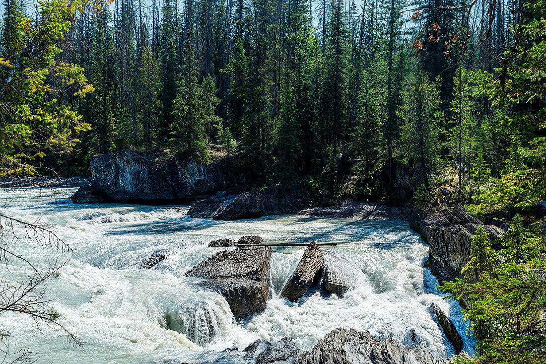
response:
M281 296L290 301L298 301L305 292L322 277L324 257L321 248L313 240L298 263L287 283L284 285Z

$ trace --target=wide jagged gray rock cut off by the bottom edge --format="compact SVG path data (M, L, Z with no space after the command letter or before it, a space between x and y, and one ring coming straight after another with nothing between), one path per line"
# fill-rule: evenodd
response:
M336 328L310 351L300 353L298 364L447 364L423 346L406 349L396 340L378 340L368 331Z

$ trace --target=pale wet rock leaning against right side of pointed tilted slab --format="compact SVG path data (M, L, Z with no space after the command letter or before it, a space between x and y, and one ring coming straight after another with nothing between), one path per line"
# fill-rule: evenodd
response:
M324 254L324 278L322 288L327 293L341 297L348 290L357 287L365 279L362 270L353 262L334 253Z

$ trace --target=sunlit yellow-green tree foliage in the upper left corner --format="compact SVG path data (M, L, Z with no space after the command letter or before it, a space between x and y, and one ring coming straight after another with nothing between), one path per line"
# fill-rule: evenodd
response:
M85 6L80 1L49 0L38 5L34 20L14 15L11 6L6 10L19 22L15 28L15 18L4 22L3 42L8 43L0 58L0 176L35 173L37 158L46 151L72 151L79 142L75 134L89 129L46 81L54 75L58 83L72 88L75 97L93 91L83 69L62 60L58 45ZM40 57L32 56L37 51Z

